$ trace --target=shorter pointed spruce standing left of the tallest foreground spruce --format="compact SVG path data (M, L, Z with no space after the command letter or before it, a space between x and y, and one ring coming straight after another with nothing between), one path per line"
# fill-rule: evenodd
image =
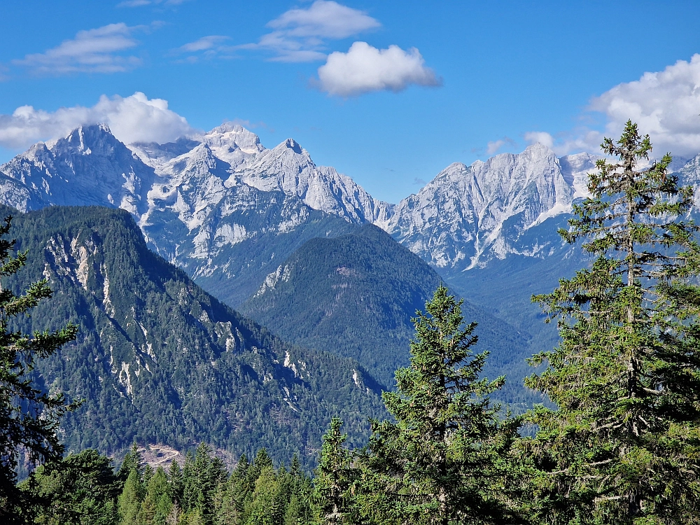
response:
M500 425L489 394L504 379L479 379L487 354L472 353L476 324L464 325L447 288L413 322L411 364L396 372L396 391L383 394L395 422L373 423L361 457L363 512L378 523L502 523L498 456L516 425Z

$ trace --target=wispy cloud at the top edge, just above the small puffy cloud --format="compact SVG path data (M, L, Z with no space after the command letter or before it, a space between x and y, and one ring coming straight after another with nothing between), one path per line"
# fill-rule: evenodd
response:
M326 57L326 42L347 38L381 24L364 11L331 0L316 0L308 8L295 8L267 23L274 29L256 43L239 49L272 52L277 62L313 62Z

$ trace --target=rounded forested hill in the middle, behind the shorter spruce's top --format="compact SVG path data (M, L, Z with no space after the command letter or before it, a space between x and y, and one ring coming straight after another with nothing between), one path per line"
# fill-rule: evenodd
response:
M442 279L430 266L373 225L332 239L311 239L268 276L241 311L276 335L357 359L386 387L408 364L411 318ZM507 323L475 304L484 349L499 363L523 346Z

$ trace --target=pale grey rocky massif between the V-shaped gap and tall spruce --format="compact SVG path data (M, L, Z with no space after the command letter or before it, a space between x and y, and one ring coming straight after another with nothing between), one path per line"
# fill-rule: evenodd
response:
M484 265L522 253L523 232L570 211L575 188L565 173L542 144L471 166L456 162L402 200L386 229L438 268Z

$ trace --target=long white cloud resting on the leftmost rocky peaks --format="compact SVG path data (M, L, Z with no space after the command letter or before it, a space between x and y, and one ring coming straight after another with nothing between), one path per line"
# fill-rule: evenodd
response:
M43 111L20 106L0 115L0 146L26 148L36 141L63 137L80 125L106 123L120 141L168 142L193 134L187 120L168 109L167 100L148 99L136 92L130 97L102 95L92 107L72 106Z

